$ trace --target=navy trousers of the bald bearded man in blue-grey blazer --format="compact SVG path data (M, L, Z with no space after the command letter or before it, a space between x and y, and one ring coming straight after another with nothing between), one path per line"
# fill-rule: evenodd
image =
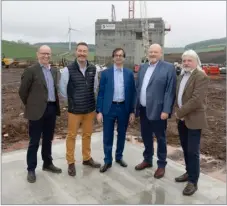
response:
M157 138L158 146L158 167L165 168L167 149L166 149L166 127L167 120L149 120L146 115L146 107L140 107L140 126L141 135L145 150L143 152L144 161L153 164L154 145L153 135Z

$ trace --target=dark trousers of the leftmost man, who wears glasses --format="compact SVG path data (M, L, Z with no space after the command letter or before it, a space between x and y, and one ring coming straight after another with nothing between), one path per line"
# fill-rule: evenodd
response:
M44 166L52 164L52 140L56 123L56 104L48 103L46 111L39 120L29 120L30 142L27 151L27 170L35 171L37 166L37 152L42 136L42 159Z

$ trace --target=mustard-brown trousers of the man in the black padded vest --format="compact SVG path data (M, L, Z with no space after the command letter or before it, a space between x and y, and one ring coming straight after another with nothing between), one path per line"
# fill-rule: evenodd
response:
M88 114L68 113L68 135L66 138L66 159L68 164L75 162L76 136L82 123L83 161L91 158L91 135L93 132L95 112Z

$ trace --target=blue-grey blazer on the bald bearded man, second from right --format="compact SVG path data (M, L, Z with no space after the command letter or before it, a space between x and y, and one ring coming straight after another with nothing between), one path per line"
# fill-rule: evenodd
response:
M149 64L143 64L140 67L136 82L137 88L137 111L140 108L140 92L144 75ZM150 78L146 94L146 111L149 120L160 120L162 112L171 116L176 94L176 70L173 64L165 61L159 61Z

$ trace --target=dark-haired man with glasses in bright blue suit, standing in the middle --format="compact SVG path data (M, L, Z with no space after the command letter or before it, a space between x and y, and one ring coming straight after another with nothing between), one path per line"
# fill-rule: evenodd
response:
M128 123L135 119L136 88L133 72L124 68L125 52L117 48L112 53L114 65L102 71L97 97L97 120L103 122L104 165L100 172L112 166L114 124L117 121L117 149L115 160L127 167L123 160L125 136Z

